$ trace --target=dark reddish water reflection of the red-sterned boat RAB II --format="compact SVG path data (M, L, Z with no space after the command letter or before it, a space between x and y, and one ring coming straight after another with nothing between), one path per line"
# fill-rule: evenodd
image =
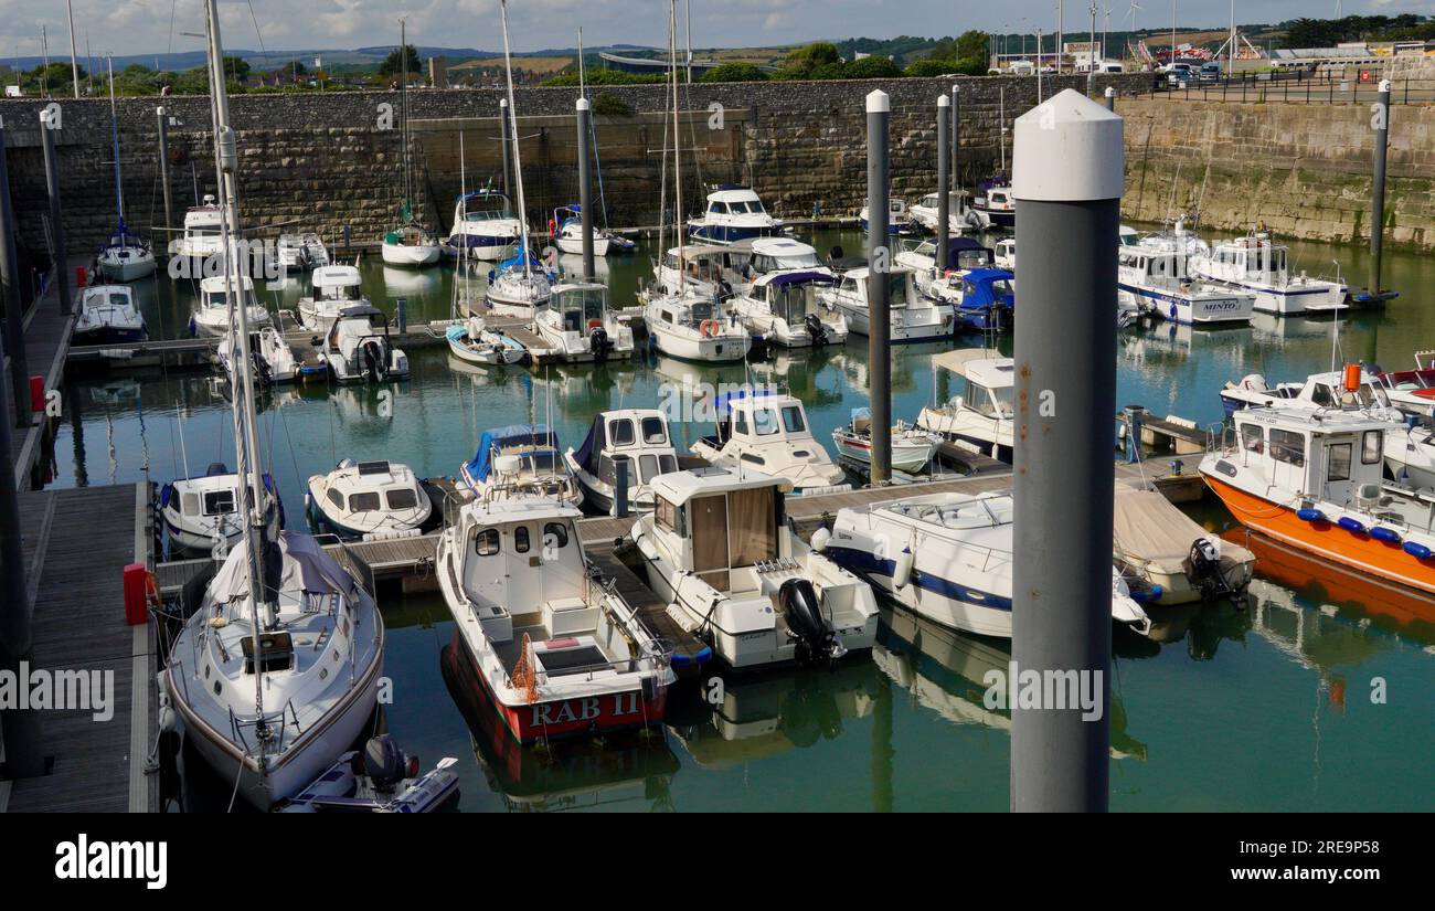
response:
M672 782L679 762L662 727L522 746L452 644L439 650L439 669L468 723L488 789L508 812L674 809Z

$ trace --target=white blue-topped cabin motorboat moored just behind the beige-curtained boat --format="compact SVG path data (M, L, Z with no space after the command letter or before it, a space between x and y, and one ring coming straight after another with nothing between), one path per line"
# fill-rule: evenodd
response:
M847 472L812 436L802 400L771 389L736 389L713 399L718 432L693 443L709 465L759 471L799 494L847 491Z

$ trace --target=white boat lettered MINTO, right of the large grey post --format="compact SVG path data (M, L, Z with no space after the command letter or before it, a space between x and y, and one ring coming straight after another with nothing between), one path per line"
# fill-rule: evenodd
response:
M1250 323L1256 296L1192 281L1187 274L1190 254L1154 244L1124 244L1118 248L1116 288L1121 303L1172 323L1218 326Z

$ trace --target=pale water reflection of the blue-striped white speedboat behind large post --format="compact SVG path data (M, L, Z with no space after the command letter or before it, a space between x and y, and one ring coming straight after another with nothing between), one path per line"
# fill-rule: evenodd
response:
M918 706L954 724L1012 730L1009 709L987 709L984 683L989 671L1004 674L1010 661L1012 648L1004 640L967 636L883 605L872 663ZM1114 686L1116 679L1114 674ZM1147 745L1126 733L1126 709L1116 693L1111 696L1111 757L1147 759Z

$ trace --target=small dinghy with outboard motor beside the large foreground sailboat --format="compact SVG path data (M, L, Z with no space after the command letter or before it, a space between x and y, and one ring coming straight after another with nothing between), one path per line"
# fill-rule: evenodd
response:
M350 750L281 813L430 813L458 798L458 759L445 756L419 775L419 759L399 749L390 735L370 737L363 752Z

